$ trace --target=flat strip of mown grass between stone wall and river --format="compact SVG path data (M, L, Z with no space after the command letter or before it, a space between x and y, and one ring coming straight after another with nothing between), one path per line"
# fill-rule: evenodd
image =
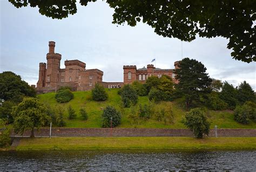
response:
M256 149L256 138L26 138L22 139L16 148L16 150L53 149Z

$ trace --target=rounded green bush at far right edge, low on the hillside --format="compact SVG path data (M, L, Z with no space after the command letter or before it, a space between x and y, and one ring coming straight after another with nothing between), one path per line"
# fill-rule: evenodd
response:
M238 105L234 110L234 120L241 124L249 124L250 119L256 119L256 104L246 102L242 106Z

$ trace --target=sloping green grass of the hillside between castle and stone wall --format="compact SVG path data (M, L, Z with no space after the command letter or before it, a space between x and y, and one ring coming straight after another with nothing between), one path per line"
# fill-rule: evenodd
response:
M74 98L68 103L57 103L55 99L55 93L48 93L43 95L38 95L40 101L49 104L51 107L63 108L64 116L66 121L66 127L100 127L101 115L103 113L103 108L107 105L116 107L121 110L120 102L121 98L117 94L118 89L107 90L109 98L104 102L95 102L92 100L91 91L76 91L73 92ZM138 104L148 104L149 99L147 96L139 97ZM71 105L73 109L76 110L77 118L73 120L68 120L67 107ZM185 110L179 107L177 102L162 102L156 107L172 107L174 114L174 121L172 124L164 124L164 121L158 121L156 117L151 117L149 120L140 121L140 125L133 124L127 117L131 113L130 108L124 109L124 115L122 116L121 125L118 127L122 128L185 128L182 123L184 119ZM83 107L88 113L88 120L83 121L82 117L79 116L79 109ZM256 128L256 123L251 122L248 125L242 125L234 121L233 114L231 111L207 111L207 117L211 122L211 128L217 125L218 128Z

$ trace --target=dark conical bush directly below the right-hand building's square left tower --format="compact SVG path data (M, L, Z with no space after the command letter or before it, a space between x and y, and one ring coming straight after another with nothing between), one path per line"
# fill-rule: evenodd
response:
M120 95L124 104L124 107L130 107L138 102L138 95L136 90L130 84L124 85L120 89Z

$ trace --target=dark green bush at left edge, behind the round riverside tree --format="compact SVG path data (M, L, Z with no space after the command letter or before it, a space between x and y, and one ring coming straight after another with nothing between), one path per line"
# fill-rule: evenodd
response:
M14 117L12 117L11 111L15 103L11 101L4 101L2 106L0 106L0 119L6 119L8 124L14 122Z

